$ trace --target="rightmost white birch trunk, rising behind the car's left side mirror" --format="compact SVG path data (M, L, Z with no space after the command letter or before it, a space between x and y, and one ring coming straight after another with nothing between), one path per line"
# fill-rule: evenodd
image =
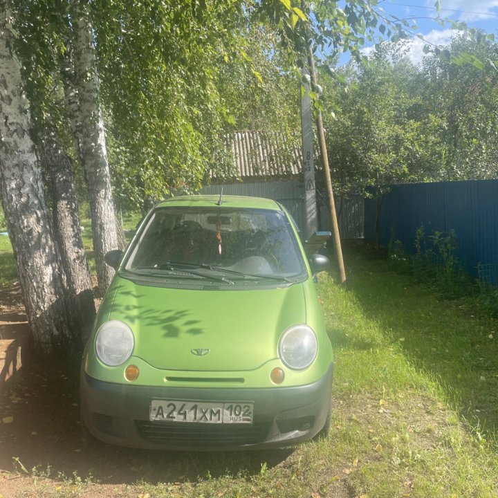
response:
M80 0L74 19L74 66L80 102L80 154L89 189L93 250L99 290L103 293L114 275L104 255L118 248L111 176L107 162L104 123L99 104L99 81L95 69L95 46L89 17L89 4Z

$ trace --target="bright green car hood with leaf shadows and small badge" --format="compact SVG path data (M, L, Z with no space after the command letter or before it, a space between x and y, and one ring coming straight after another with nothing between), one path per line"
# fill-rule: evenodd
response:
M282 332L306 323L303 284L243 291L138 285L118 278L104 319L135 336L133 356L159 369L237 371L277 358ZM104 303L105 304L105 303Z

